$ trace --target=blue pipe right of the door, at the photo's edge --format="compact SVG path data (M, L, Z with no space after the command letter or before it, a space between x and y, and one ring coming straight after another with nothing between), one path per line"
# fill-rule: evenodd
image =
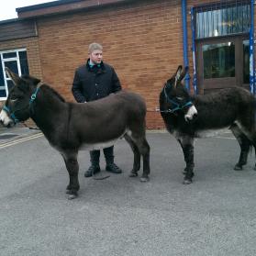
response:
M254 0L250 0L250 92L255 95L254 71Z

